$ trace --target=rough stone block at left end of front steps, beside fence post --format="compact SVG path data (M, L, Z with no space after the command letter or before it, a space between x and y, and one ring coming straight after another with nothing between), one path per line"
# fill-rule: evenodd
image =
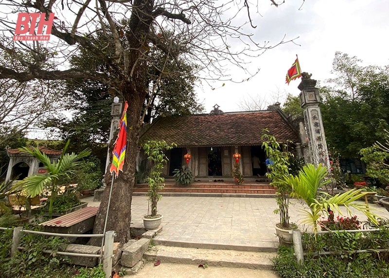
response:
M125 243L123 246L121 265L133 267L138 261L141 261L143 253L148 249L149 239L142 238L132 244Z

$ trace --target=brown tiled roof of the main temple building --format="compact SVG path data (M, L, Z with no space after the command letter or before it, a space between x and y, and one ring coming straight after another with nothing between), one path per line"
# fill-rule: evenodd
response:
M164 139L178 147L260 145L264 128L278 141L300 142L287 120L279 112L268 110L161 117L145 131L141 141Z

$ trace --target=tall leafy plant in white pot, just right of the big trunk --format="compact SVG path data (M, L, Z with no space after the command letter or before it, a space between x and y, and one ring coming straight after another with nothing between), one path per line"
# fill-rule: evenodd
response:
M142 145L144 154L151 161L150 174L146 178L146 183L149 185L149 190L147 191L149 203L147 215L143 216L143 225L147 230L158 228L162 221L162 215L157 214L157 204L162 197L159 191L165 186L163 183L165 178L161 174L163 165L168 160L165 151L173 149L175 146L177 146L175 143L169 145L165 140L148 140Z

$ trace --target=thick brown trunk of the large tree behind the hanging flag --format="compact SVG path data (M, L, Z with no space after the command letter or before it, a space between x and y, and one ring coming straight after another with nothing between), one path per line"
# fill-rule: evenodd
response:
M148 17L153 9L153 0L136 0L130 18L129 29L134 32L126 34L128 41L128 72L126 78L119 80L117 89L123 93L128 102L127 109L127 147L123 173L114 180L111 201L106 223L106 231L114 230L117 234L115 242L126 243L130 239L131 201L135 184L136 160L138 156L138 142L141 129L141 113L144 100L148 92L146 81L147 48L142 38L150 30L152 18ZM104 230L106 211L108 207L109 190L112 176L106 173L106 190L103 193L93 233L102 233ZM144 204L147 207L147 204ZM92 238L92 245L100 245L101 239Z

